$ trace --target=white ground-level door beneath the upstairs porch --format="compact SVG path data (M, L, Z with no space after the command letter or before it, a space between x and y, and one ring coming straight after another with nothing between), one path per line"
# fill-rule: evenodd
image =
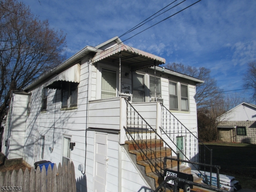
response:
M94 145L94 192L106 191L107 180L107 134L95 133Z

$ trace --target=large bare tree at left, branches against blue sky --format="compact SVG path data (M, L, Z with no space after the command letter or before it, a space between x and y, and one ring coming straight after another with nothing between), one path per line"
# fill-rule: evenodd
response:
M0 124L11 95L11 82L22 90L42 73L64 61L66 35L40 21L16 0L0 1Z

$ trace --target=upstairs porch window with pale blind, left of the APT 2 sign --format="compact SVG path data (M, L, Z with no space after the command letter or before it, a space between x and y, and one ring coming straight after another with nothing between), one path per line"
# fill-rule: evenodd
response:
M101 70L101 99L116 97L116 72Z

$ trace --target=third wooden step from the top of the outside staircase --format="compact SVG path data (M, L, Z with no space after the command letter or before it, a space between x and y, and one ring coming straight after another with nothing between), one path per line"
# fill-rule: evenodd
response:
M170 157L177 158L176 156L170 156ZM155 172L157 170L164 169L164 157L159 157L157 159L151 159L151 161L149 161L149 160L137 161L137 164L144 166L146 173ZM181 164L181 162L180 162L180 164ZM178 165L178 162L175 160L170 160L170 159L166 160L166 168L173 168L177 165Z

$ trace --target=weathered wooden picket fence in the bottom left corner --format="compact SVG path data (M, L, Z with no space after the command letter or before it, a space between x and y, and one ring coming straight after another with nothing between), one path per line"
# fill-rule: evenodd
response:
M58 169L56 164L54 164L53 169L49 165L47 175L45 166L43 166L42 172L39 167L36 169L36 172L34 167L32 167L30 173L28 168L26 168L24 175L20 169L18 176L15 170L12 171L12 176L7 171L5 178L2 172L0 172L0 190L2 187L14 186L21 187L23 192L76 192L74 164L73 162L68 162L68 166L64 163L62 167L59 163ZM11 188L11 191L16 191L16 189Z

